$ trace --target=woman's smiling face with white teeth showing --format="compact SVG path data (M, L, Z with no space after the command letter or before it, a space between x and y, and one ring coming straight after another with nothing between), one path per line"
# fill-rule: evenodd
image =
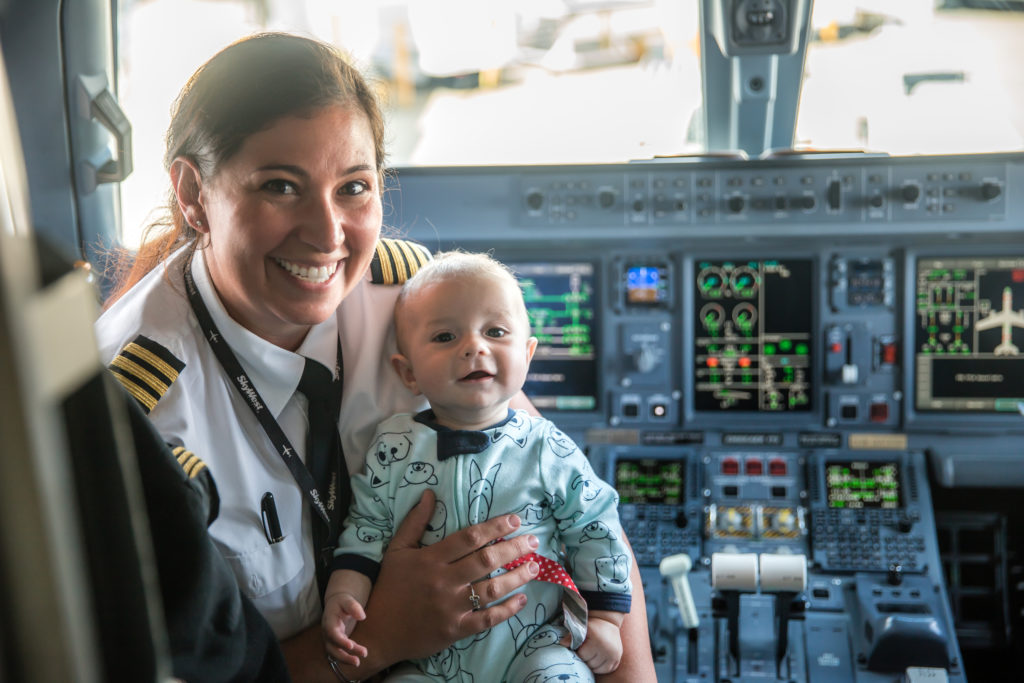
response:
M357 108L281 119L200 189L206 262L236 322L295 349L370 265L381 227L374 139Z

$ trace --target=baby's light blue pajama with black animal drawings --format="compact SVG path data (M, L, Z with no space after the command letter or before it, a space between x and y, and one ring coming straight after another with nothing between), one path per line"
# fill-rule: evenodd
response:
M524 411L509 411L505 421L481 431L451 430L432 418L429 411L402 414L378 427L366 468L352 477L352 505L335 568L373 578L394 529L431 488L437 503L424 545L516 513L522 524L513 536L537 536L536 552L565 565L590 609L629 611L631 560L618 523L618 496L570 438ZM562 590L530 582L519 589L528 602L518 614L417 661L419 677L395 680L592 681L575 653L557 644L565 633ZM468 587L465 597L453 599L468 602Z

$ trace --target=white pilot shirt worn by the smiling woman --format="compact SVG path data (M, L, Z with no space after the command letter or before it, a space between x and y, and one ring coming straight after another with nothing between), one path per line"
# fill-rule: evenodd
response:
M185 364L150 412L158 431L183 445L209 468L220 495L220 512L210 535L243 592L266 617L279 639L319 621L311 512L276 453L203 337L185 296L182 267L187 250L158 266L96 322L99 351L110 362L143 335ZM312 328L297 352L257 337L227 314L206 268L203 252L191 274L219 333L249 375L305 462L306 401L297 393L305 357L335 367L337 335L344 360L342 446L350 472L362 467L377 424L394 413L425 403L413 396L391 368L395 351L392 312L398 287L365 280L332 316ZM263 494L273 494L284 541L269 544L260 516Z

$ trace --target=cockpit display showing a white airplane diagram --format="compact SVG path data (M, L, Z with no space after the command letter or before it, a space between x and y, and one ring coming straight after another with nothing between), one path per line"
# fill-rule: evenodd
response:
M918 261L914 392L920 411L1024 407L1024 258Z

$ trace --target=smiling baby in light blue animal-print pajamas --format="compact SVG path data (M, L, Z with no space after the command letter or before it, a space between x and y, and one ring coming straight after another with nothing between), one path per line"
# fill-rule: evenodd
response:
M529 601L518 614L417 661L424 679L593 680L591 669L614 671L631 591L618 496L551 422L509 408L537 349L515 276L483 254L439 254L404 285L394 314L392 365L430 410L381 423L366 470L352 478L325 597L326 638L350 664L366 655L348 634L365 618L371 577L394 529L429 487L437 502L425 545L515 513L517 532L540 545L505 569L535 561L540 572L519 589ZM558 563L563 547L567 572ZM482 606L472 584L466 596L458 599L467 610Z

